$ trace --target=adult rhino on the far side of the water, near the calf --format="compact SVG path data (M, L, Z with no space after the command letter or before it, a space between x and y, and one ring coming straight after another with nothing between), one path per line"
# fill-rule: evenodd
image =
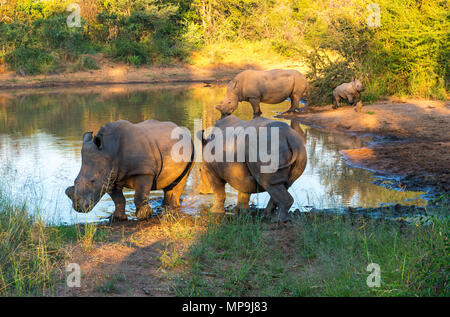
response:
M307 88L306 77L293 69L245 70L228 83L227 95L216 108L224 117L236 110L240 101L248 101L256 118L262 114L260 102L275 104L289 97L291 107L287 112L294 112Z

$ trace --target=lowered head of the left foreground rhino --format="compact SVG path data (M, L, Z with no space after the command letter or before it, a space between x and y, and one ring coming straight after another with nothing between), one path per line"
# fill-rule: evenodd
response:
M114 178L114 157L111 148L114 145L107 146L104 143L100 132L95 137L92 132L83 135L81 169L74 186L66 189L66 195L72 200L73 208L78 212L91 211L111 186L110 182Z

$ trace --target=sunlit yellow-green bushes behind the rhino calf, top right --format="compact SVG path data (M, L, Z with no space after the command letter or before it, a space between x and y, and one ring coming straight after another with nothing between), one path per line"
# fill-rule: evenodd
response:
M330 103L332 89L353 77L365 84L365 101L393 94L445 99L450 29L445 3L378 1L381 26L373 28L366 22L368 3L357 1L337 14L325 11L305 29L312 103Z

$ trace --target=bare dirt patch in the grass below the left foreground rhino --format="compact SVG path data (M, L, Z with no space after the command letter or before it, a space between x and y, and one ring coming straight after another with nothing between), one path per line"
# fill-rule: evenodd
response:
M69 288L63 282L56 296L173 295L160 260L167 247L165 228L157 218L101 225L97 230L106 231L106 240L74 244L61 268L64 281L68 276L64 268L79 264L81 286Z

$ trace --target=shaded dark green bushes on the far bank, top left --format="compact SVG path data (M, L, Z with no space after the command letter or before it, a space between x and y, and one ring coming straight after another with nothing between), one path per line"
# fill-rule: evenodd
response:
M134 65L183 59L187 46L182 39L182 18L187 1L99 0L95 21L82 18L81 27L68 27L64 1L24 1L11 5L0 20L0 62L21 74L96 69L92 60L78 61L82 54L103 48L113 59Z

